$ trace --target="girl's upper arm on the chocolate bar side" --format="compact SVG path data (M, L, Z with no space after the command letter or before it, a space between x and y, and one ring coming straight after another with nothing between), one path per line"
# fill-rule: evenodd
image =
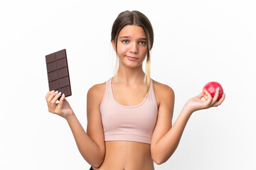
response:
M92 86L87 92L87 135L100 147L105 154L105 139L100 114L100 103L105 89L101 84Z

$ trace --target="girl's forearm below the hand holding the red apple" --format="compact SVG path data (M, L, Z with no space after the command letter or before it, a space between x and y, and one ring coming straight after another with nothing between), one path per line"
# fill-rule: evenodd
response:
M174 154L191 114L192 112L189 111L188 107L185 105L171 129L156 142L154 148L156 148L157 164L166 162L169 157Z

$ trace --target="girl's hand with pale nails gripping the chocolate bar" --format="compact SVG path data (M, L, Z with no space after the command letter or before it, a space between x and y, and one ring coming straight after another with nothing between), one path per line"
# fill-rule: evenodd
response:
M68 101L65 99L65 94L63 94L60 98L60 101L56 103L60 95L61 93L58 93L58 91L49 91L48 94L46 94L48 111L50 113L60 115L63 118L68 118L70 115L74 114L73 110L70 107Z

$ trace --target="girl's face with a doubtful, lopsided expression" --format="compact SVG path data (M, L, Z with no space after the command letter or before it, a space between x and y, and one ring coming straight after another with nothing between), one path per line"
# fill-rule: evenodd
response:
M112 45L117 52L120 64L138 67L146 58L146 35L142 27L124 26L117 38L117 50L113 40Z

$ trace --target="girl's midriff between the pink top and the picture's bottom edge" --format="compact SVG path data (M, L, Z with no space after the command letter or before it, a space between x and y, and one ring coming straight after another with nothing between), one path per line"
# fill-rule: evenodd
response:
M150 145L131 141L106 141L105 160L95 170L154 170Z

